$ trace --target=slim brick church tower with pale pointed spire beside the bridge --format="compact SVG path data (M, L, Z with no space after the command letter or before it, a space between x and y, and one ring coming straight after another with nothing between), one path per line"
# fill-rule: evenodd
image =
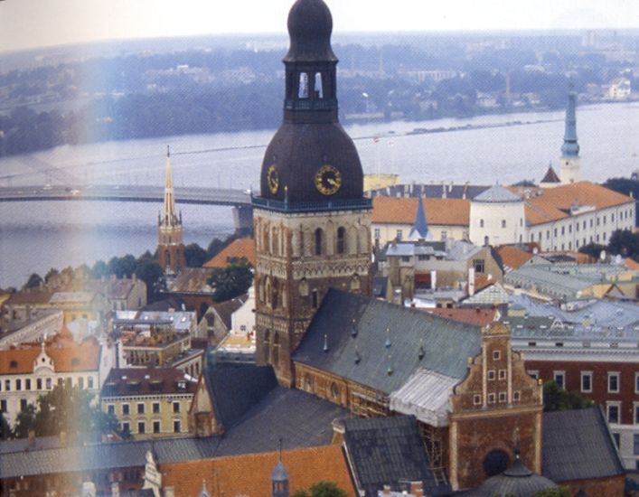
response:
M157 258L166 275L174 275L186 266L182 230L182 212L175 211L171 152L166 147L166 173L164 178L164 205L157 215Z

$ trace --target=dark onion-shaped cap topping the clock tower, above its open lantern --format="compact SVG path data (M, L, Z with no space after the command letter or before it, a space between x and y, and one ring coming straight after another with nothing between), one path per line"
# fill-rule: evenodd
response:
M333 17L322 0L297 0L288 13L285 62L337 61L331 48Z

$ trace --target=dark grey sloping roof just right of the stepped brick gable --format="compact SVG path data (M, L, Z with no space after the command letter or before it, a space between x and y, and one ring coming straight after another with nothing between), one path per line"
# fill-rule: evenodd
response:
M541 474L571 482L625 474L601 408L543 413Z

